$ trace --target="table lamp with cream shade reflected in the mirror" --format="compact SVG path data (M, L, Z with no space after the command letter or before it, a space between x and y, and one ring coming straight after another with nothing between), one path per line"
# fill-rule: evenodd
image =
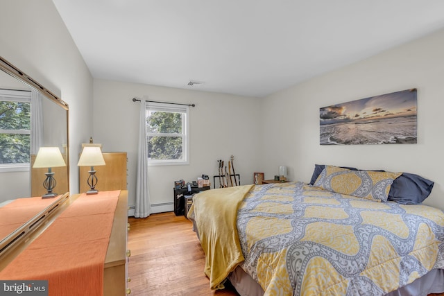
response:
M37 157L35 157L33 168L48 168L48 173L45 173L46 179L43 182L44 189L48 192L42 195L42 198L54 198L58 195L53 193L57 182L53 177L54 173L51 171L51 168L66 165L58 147L40 147Z

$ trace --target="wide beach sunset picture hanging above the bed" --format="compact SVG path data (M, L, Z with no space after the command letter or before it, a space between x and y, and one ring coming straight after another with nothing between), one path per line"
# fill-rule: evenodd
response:
M321 145L416 143L417 90L321 107Z

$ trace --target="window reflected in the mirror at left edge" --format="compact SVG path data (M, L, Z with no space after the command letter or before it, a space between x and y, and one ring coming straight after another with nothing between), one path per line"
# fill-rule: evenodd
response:
M31 92L0 89L0 171L29 169Z

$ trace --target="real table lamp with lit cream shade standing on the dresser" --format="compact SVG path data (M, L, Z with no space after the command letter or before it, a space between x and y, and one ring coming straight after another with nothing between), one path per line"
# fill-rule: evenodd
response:
M99 146L85 146L83 147L80 159L78 159L78 166L91 166L91 170L88 172L89 177L87 179L88 186L90 187L87 191L89 194L97 194L99 191L96 190L96 184L98 182L96 171L94 171L94 166L104 166L105 159L103 159L102 151Z

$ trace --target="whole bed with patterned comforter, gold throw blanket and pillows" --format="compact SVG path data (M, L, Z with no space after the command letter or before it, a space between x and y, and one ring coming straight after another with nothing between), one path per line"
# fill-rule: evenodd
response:
M189 211L213 289L251 295L444 292L444 213L409 173L315 166L309 184L194 195Z

